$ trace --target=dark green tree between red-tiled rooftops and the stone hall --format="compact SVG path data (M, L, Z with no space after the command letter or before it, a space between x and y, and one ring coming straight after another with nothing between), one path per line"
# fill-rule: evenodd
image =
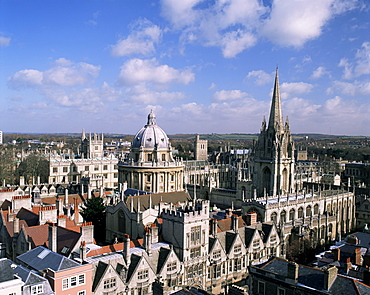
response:
M87 199L83 203L81 216L85 222L94 225L94 238L97 242L105 241L105 205L101 197Z

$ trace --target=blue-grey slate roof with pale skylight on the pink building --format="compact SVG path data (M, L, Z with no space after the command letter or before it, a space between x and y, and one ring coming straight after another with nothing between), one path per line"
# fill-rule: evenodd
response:
M39 271L47 268L53 271L61 271L80 266L79 263L42 246L19 255L17 260Z

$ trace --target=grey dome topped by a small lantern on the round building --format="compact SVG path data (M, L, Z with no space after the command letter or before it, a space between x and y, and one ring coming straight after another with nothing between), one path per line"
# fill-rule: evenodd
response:
M148 123L136 133L131 148L133 150L168 150L170 147L167 134L157 125L156 117L151 110Z

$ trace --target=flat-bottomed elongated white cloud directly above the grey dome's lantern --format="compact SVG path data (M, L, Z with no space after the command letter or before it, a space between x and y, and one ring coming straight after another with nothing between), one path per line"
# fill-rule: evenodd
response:
M191 69L176 70L168 65L159 65L153 59L131 59L124 63L118 77L118 85L134 85L142 82L168 85L171 83L189 84L194 81Z

